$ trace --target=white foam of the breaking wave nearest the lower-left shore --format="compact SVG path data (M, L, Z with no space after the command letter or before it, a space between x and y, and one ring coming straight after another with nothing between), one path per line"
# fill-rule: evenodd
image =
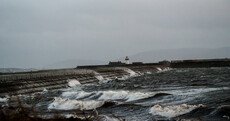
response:
M70 100L63 99L60 97L55 97L54 101L49 105L48 109L56 110L92 110L98 107L101 107L104 104L104 101L79 101L79 100Z

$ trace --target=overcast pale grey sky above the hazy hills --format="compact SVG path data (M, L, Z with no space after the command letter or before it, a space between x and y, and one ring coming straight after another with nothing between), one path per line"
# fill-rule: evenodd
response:
M229 46L229 0L0 0L0 68Z

